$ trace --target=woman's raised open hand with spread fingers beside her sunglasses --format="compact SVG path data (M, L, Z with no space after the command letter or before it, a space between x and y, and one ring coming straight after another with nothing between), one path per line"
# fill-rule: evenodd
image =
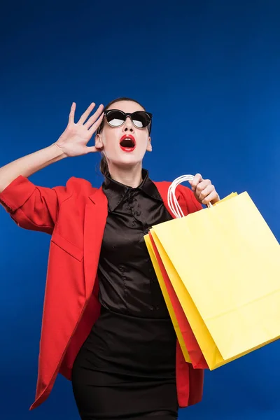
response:
M69 113L69 122L59 137L59 139L55 142L55 146L57 146L66 156L73 157L73 156L80 156L86 155L90 152L98 152L100 149L97 149L94 146L87 146L87 143L92 138L92 135L97 130L99 125L102 123L102 119L104 116L103 105L99 105L97 111L90 116L90 113L94 109L95 104L92 102L87 110L83 113L78 120L78 123L74 122L76 104L73 102L71 106L71 111Z

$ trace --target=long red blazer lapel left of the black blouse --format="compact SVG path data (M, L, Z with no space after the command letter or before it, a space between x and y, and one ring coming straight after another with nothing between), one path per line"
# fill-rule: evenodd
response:
M90 195L85 207L84 268L86 300L92 294L94 287L107 216L107 197L102 188L99 188Z

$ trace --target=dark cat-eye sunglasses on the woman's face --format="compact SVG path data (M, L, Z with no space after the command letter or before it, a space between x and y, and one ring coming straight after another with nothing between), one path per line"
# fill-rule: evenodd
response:
M125 120L129 117L132 124L137 128L146 128L149 126L149 133L151 132L152 114L146 111L123 112L119 109L108 109L104 111L104 118L110 127L121 127L125 124ZM104 123L99 126L98 132L102 130Z

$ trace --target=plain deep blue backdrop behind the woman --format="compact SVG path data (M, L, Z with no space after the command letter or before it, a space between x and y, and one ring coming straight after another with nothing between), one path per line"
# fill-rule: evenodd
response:
M119 96L154 115L152 179L202 173L221 197L247 190L280 239L280 3L262 1L25 1L0 11L0 166L52 144L94 101ZM92 142L90 142L92 144ZM30 177L100 186L99 155ZM50 237L0 209L1 419L78 419L59 377L29 412L36 386ZM203 255L202 255L203 258ZM279 419L279 342L214 372L180 419Z

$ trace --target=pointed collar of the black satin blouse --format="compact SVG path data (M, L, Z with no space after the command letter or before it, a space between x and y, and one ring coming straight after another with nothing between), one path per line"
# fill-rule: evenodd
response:
M120 202L123 201L125 195L129 192L133 194L137 193L137 191L141 191L142 193L148 195L148 197L162 202L162 197L160 197L158 188L149 178L148 171L146 169L142 169L142 179L143 181L137 188L132 188L111 179L111 176L105 176L102 184L102 190L107 197L109 210L114 211Z

